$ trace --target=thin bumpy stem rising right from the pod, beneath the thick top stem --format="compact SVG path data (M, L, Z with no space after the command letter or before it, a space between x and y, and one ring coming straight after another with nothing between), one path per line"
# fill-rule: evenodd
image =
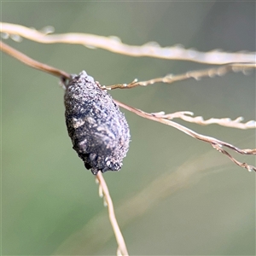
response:
M130 89L137 86L147 86L150 84L155 83L166 83L166 84L172 84L177 81L182 81L186 79L195 79L200 80L202 78L214 78L216 76L224 76L224 74L229 72L242 72L244 74L247 74L248 71L252 70L253 68L256 68L256 63L230 63L225 64L221 67L211 67L207 69L202 70L195 70L195 71L189 71L187 73L183 74L168 74L165 77L157 78L157 79L150 79L147 81L137 81L137 79L133 80L130 84L113 84L106 86L106 89L113 90L113 89Z

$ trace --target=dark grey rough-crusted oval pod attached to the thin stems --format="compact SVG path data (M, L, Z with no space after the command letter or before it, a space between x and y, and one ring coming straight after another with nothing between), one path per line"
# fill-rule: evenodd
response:
M129 149L130 130L107 90L82 71L67 84L64 102L68 135L84 166L95 175L119 171Z

